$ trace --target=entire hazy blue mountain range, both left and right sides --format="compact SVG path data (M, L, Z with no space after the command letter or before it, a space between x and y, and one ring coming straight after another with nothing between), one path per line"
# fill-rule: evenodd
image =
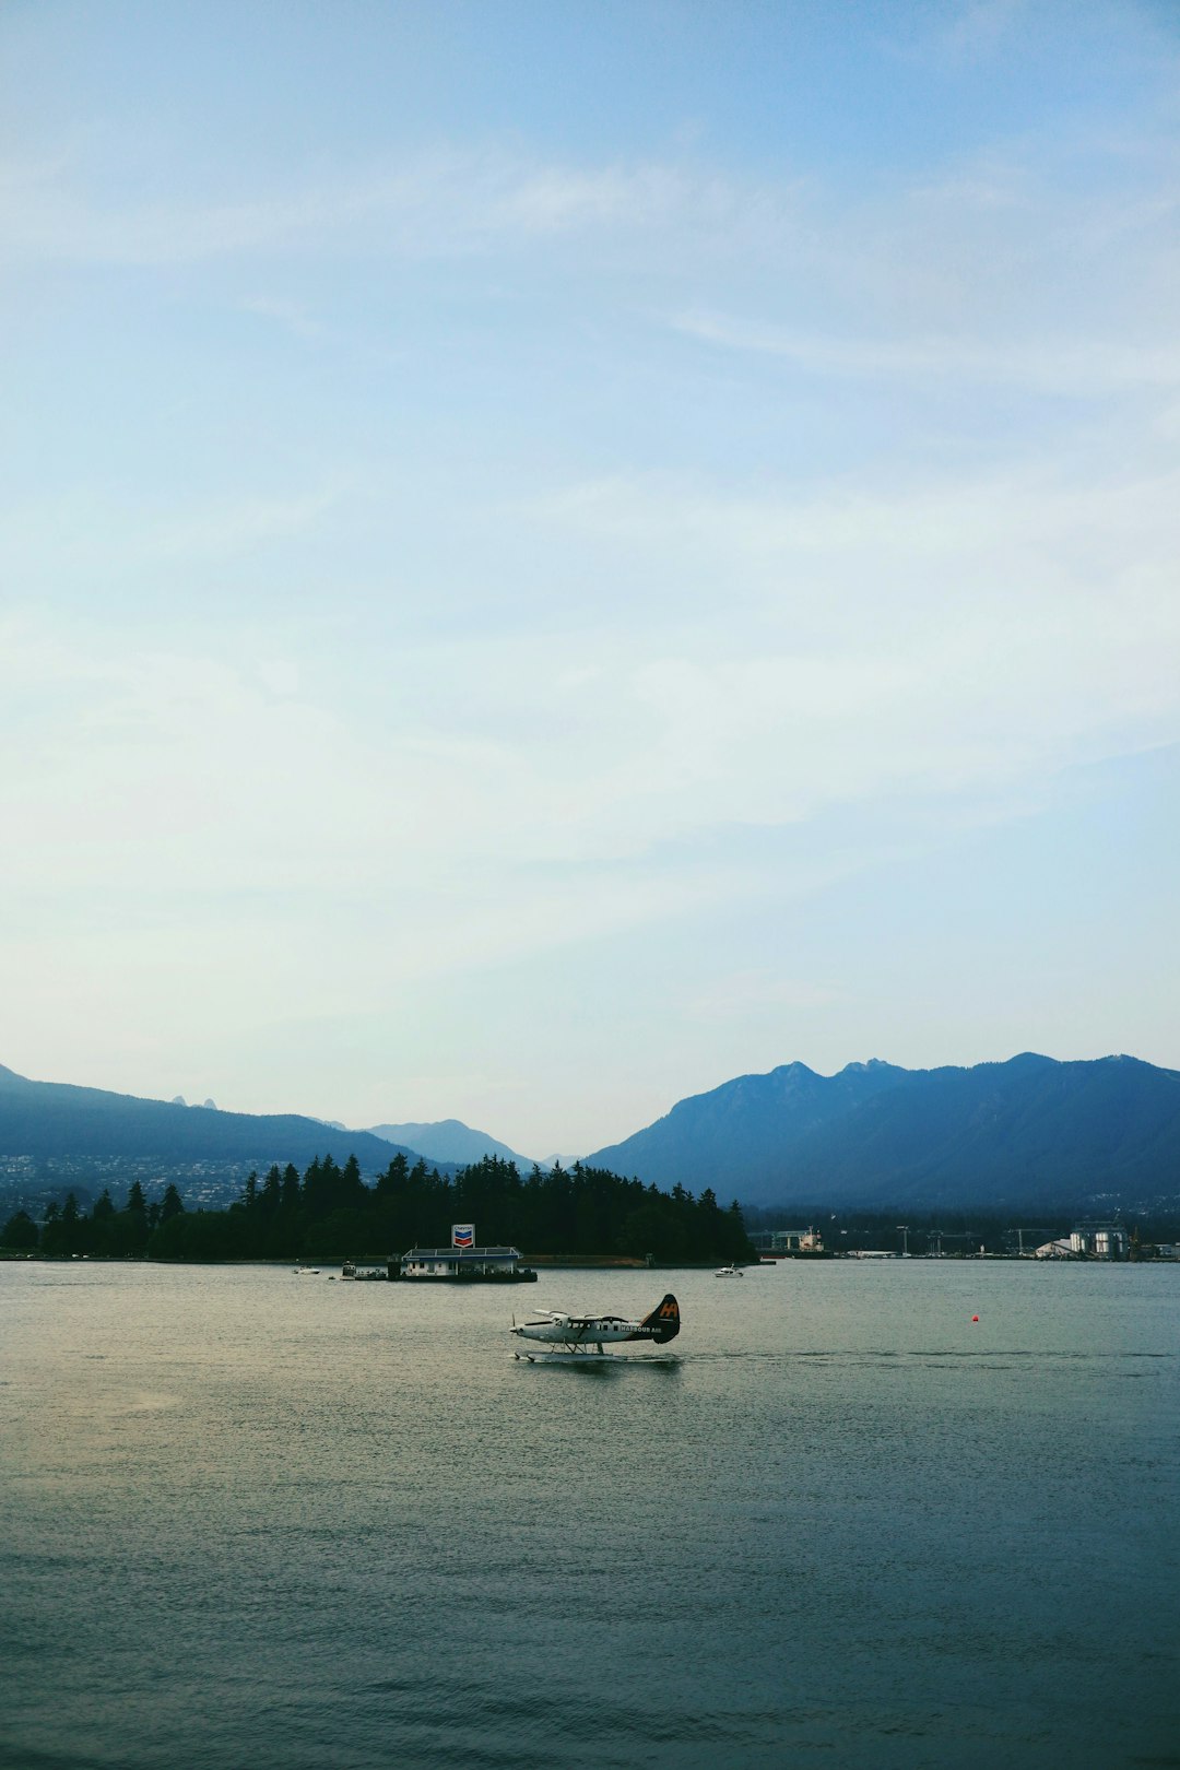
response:
M0 1066L0 1181L83 1186L180 1174L193 1197L241 1189L249 1166L357 1156L364 1174L410 1163L453 1172L527 1158L458 1119L347 1131L136 1099ZM584 1158L662 1189L711 1188L747 1207L1095 1209L1180 1205L1180 1073L1132 1057L1056 1062L1031 1051L969 1069L872 1060L821 1076L805 1064L738 1076ZM189 1188L182 1184L189 1197Z

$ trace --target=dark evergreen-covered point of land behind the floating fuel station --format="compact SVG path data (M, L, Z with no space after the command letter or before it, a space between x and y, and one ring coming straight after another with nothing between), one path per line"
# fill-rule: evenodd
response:
M455 1179L410 1166L396 1154L366 1184L356 1156L315 1158L251 1174L226 1211L186 1211L175 1186L145 1198L136 1181L119 1209L104 1191L90 1212L71 1193L46 1207L41 1223L16 1212L0 1232L9 1251L69 1258L267 1260L402 1255L412 1246L448 1246L451 1223L471 1221L481 1243L536 1255L651 1255L662 1262L752 1257L741 1211L722 1209L711 1189L662 1193L639 1179L573 1163L520 1174L515 1161L487 1156Z

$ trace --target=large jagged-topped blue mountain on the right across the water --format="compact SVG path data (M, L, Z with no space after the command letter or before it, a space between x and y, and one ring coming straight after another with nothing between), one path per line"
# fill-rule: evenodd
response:
M738 1076L587 1161L743 1205L1180 1198L1180 1073L1024 1051L969 1069L872 1060Z

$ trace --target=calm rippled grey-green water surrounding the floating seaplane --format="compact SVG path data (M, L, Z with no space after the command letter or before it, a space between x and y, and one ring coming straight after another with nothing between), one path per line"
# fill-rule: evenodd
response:
M25 1264L0 1358L4 1766L1180 1765L1180 1269Z

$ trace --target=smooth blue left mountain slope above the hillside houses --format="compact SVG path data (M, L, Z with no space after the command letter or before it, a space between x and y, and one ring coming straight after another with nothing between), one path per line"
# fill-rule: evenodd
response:
M301 1166L315 1156L347 1161L356 1154L363 1170L377 1174L396 1152L368 1131L333 1129L301 1113L195 1112L173 1101L30 1081L0 1064L0 1156ZM419 1156L414 1149L403 1154L410 1163Z

